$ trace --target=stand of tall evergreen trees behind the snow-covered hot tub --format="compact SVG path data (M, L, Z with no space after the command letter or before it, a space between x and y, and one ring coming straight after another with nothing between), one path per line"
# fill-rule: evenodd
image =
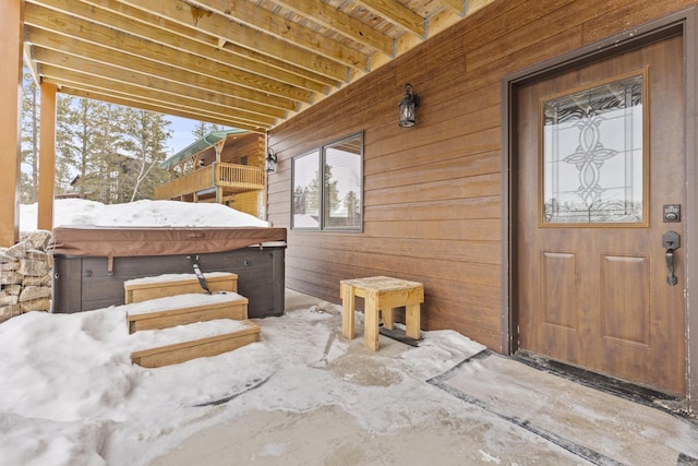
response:
M22 202L38 196L40 89L25 73L22 103ZM57 96L56 192L79 190L104 203L153 196L168 175L157 168L166 158L170 121L161 115L96 100ZM202 123L201 131L217 131ZM73 184L73 187L71 187Z

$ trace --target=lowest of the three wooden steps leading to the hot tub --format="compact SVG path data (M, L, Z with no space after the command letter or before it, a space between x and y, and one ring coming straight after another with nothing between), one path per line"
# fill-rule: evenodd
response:
M230 332L231 323L237 325L233 326ZM159 368L163 366L178 365L194 358L217 356L260 340L260 326L246 320L198 322L195 324L183 325L182 327L202 324L215 324L217 330L225 333L136 350L131 354L131 362L144 368ZM160 333L157 337L160 343L166 343L168 339L181 338L182 327L156 331ZM171 335L168 336L168 333L171 333ZM178 333L180 333L180 335L178 335ZM200 335L205 334L205 332L196 333ZM146 342L147 338L142 343L146 344Z

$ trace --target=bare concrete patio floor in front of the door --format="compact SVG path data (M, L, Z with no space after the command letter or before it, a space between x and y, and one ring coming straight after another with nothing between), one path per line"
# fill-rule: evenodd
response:
M327 306L287 292L287 314L318 304ZM341 338L341 319L333 319L337 338ZM349 343L342 370L350 367L357 383L382 386L381 403L414 403L392 392L390 372L376 366L375 354L363 345L361 330L358 325L359 337ZM388 358L382 360L401 358L410 349L381 336L380 356ZM394 430L371 430L339 405L313 410L248 410L194 433L151 464L698 464L695 419L543 373L512 358L485 356L486 361L474 358L440 377L425 375L417 399L428 405L432 415L416 416L412 421L410 407L402 405L406 419ZM520 386L512 387L507 380L516 380ZM317 390L332 389L318 384Z

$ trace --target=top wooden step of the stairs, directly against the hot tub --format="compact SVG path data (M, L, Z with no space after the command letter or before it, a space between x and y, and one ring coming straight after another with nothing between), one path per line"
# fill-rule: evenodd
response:
M210 291L238 291L238 275L230 272L204 274ZM166 296L206 292L194 274L164 274L125 280L125 303L142 302Z

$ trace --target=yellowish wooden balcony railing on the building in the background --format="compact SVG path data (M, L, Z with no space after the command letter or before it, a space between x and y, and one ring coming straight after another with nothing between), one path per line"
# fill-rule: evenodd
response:
M226 193L264 189L264 170L249 165L214 164L155 188L155 199L179 199L218 187Z

